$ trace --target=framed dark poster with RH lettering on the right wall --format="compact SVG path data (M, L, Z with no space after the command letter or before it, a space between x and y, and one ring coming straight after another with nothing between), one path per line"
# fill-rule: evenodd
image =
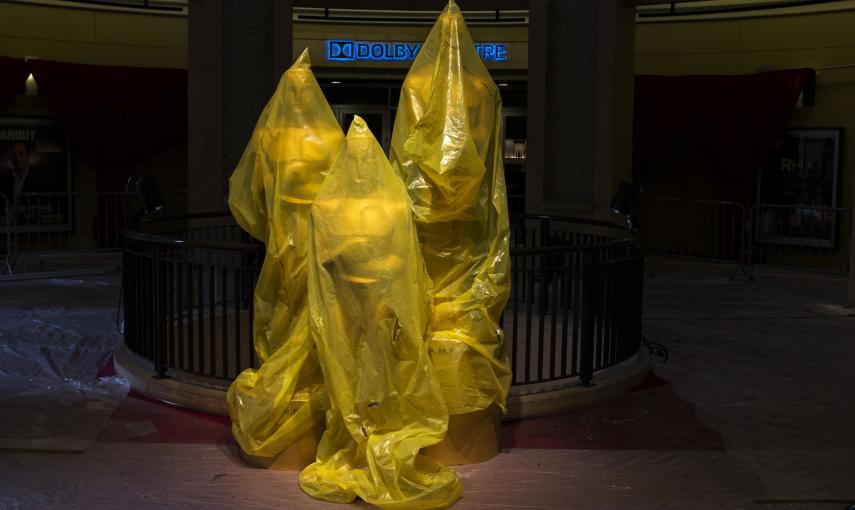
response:
M843 129L787 129L761 168L757 240L832 247Z

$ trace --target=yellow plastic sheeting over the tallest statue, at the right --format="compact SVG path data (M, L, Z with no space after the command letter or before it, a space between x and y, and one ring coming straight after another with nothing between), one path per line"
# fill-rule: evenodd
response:
M451 414L504 409L511 382L498 326L510 293L501 111L449 2L404 80L390 159L433 279L430 353Z

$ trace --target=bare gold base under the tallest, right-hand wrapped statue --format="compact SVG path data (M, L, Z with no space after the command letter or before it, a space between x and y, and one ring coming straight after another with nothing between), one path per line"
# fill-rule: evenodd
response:
M422 451L446 466L478 464L499 454L501 430L501 409L495 404L474 413L453 414L445 439Z

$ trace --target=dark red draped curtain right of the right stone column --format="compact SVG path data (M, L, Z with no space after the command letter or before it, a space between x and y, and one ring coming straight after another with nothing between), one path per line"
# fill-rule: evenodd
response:
M812 69L751 75L636 76L634 174L654 171L675 130L720 178L753 177L787 123Z

